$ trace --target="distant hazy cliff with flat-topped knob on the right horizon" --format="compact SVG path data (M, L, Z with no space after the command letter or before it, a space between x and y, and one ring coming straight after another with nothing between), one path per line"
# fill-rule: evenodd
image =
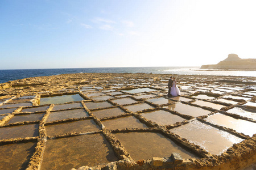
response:
M228 58L217 65L203 65L200 69L256 70L256 59L242 59L237 54L229 54Z

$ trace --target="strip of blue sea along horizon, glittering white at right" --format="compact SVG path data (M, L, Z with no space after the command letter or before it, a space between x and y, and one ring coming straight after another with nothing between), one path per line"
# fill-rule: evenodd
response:
M99 67L76 69L16 69L0 70L0 83L35 76L49 76L71 73L152 73L179 75L224 75L224 76L253 76L256 71L245 70L213 70L200 67Z

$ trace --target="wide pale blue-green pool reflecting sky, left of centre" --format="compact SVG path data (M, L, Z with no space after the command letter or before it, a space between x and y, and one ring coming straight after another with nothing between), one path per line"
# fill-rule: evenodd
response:
M76 95L63 95L54 97L43 97L40 99L40 105L44 104L59 104L71 101L81 101L84 100L79 94Z

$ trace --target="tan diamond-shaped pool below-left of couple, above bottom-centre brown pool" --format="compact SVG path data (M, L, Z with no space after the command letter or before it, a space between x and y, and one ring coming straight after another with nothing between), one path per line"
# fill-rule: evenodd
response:
M176 122L182 122L185 120L184 118L167 111L146 112L142 113L141 116L160 125L172 125Z

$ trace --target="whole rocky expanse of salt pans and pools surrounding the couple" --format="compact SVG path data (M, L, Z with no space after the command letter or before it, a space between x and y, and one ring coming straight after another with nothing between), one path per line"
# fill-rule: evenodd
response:
M181 96L167 96L170 76ZM255 168L255 96L256 79L242 76L84 73L3 83L0 168Z

